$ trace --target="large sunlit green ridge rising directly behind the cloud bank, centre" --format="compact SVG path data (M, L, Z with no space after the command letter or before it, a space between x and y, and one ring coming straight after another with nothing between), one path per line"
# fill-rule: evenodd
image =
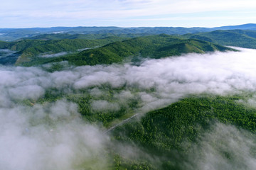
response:
M215 50L233 49L202 40L181 39L161 34L113 42L103 47L84 50L77 55L58 57L47 62L67 60L76 65L112 64L122 62L127 57L161 58L190 52L205 53Z

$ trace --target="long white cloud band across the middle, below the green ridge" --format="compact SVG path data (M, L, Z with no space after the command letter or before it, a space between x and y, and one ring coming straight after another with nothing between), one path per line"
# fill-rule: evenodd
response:
M242 52L189 54L147 60L139 67L130 64L98 65L53 73L43 72L34 67L1 67L0 89L4 91L3 100L36 99L43 96L45 89L48 88L84 89L103 84L117 88L126 85L142 92L155 89L153 93L146 94L148 97L144 98L144 95L141 95L140 98L144 105L155 103L154 106L161 106L156 104L158 100L165 100L164 103L168 103L191 93L210 91L223 94L234 90L254 90L254 55L255 50L242 49ZM100 95L100 90L91 93Z

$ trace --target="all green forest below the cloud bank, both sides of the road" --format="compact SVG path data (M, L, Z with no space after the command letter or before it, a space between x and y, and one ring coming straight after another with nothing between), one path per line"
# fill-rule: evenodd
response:
M90 107L92 101L104 100L111 103L118 102L114 94L122 91L125 87L113 89L110 86L97 87L104 90L100 96L92 96L89 89L74 91L74 94L65 94L56 89L46 91L43 98L38 101L21 101L28 106L36 103L48 103L65 98L78 104L78 111L83 120L102 125L102 130L107 130L134 115L134 111L140 106L138 98L132 98L119 111L94 111ZM136 89L132 93L136 93ZM218 125L236 127L249 137L256 137L256 108L245 105L255 94L243 93L231 96L213 96L210 94L192 95L171 105L150 111L140 117L124 121L122 125L107 132L113 145L121 145L128 149L135 148L136 157L131 157L126 152L120 153L119 147L106 149L107 157L110 158L110 167L106 169L186 169L183 167L188 157L200 152L194 147L200 147L201 139L213 133ZM46 118L46 121L49 121ZM50 123L50 124L54 124ZM220 132L221 133L221 132ZM229 132L237 137L233 132ZM254 138L255 139L255 138ZM238 140L239 142L240 140ZM255 140L254 140L255 141ZM254 142L253 141L253 142ZM219 145L229 145L219 138L213 141L223 159L233 163L235 156L233 150L223 149ZM250 148L253 157L256 157L256 148ZM134 150L132 150L134 151ZM131 152L132 152L131 151ZM127 151L128 152L128 151ZM128 152L129 153L129 152ZM246 162L245 162L246 164ZM239 164L244 167L245 165ZM85 166L87 167L87 166ZM195 168L190 168L195 169Z

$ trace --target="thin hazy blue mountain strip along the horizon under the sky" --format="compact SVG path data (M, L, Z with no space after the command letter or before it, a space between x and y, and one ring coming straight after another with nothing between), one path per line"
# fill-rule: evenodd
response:
M247 23L240 26L223 26L215 28L183 28L183 27L52 27L52 28L0 28L0 40L13 41L19 38L31 38L42 34L169 34L183 35L187 33L209 32L213 30L256 30L255 23Z

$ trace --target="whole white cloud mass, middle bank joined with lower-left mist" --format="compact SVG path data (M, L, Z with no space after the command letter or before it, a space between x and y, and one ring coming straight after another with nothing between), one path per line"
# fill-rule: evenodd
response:
M139 66L70 67L53 73L41 67L0 66L0 169L107 166L104 150L109 137L100 128L85 123L75 103L65 99L34 103L48 89L70 93L87 89L91 96L100 98L105 96L107 86L118 89L112 91L112 101L94 100L92 109L118 111L135 98L139 101L139 113L169 105L188 94L255 91L256 50L240 50L146 60ZM26 99L32 102L31 106L22 104ZM202 163L198 167L206 166Z

